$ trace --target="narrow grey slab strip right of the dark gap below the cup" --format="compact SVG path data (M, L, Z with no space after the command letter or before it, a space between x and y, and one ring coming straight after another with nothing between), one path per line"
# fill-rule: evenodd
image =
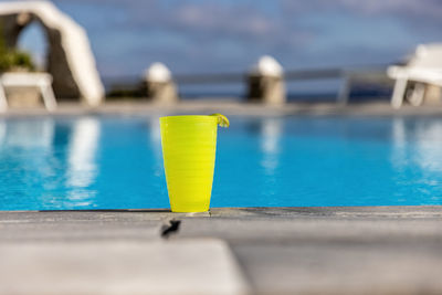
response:
M230 243L277 242L440 242L440 220L336 219L191 219L183 220L176 238L217 236Z

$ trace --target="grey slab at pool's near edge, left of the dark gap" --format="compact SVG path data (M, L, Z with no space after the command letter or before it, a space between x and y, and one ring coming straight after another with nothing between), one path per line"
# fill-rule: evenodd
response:
M3 211L0 242L46 240L152 240L172 219L210 217L170 210Z

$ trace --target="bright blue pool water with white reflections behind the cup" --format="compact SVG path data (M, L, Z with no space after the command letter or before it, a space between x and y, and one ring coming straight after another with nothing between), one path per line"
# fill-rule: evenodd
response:
M440 117L231 117L212 207L442 204ZM0 120L0 210L167 208L158 118Z

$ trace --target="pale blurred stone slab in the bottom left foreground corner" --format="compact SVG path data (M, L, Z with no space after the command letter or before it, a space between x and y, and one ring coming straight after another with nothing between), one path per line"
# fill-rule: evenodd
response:
M248 294L221 240L0 244L0 294Z

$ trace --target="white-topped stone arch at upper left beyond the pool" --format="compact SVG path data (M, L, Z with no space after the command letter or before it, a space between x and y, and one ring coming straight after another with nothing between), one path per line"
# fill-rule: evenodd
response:
M49 52L48 72L53 76L54 93L60 98L82 98L87 105L99 105L104 87L86 32L49 1L0 3L0 22L9 48L28 24L39 21L45 31Z

